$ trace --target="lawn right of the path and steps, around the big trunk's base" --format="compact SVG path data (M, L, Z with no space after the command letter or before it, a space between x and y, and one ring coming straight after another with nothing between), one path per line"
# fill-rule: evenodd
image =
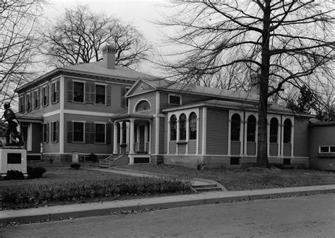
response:
M230 191L335 184L335 173L320 170L249 167L239 170L196 170L176 165L125 165L119 168L150 173L199 177L217 181Z

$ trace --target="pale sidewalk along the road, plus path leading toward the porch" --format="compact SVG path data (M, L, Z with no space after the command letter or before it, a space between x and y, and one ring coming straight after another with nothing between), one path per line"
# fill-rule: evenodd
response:
M100 169L99 169L100 170ZM109 170L111 173L122 173L131 176L153 176L142 173ZM201 182L201 181L199 181ZM145 199L125 201L107 201L101 203L80 203L63 206L50 206L40 208L28 208L22 210L0 211L0 223L20 222L28 223L41 220L59 220L69 218L81 218L95 215L107 215L120 211L145 211L158 208L175 208L182 206L196 206L211 203L227 203L234 201L253 201L258 199L282 198L288 196L305 196L312 194L327 194L335 192L335 184L286 187L279 189L258 189L249 191L221 191L206 192L200 194L187 194L175 196L159 196Z

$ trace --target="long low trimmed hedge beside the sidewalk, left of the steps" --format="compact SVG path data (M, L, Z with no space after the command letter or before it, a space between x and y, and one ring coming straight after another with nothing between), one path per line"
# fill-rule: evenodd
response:
M0 191L0 204L22 206L52 201L85 201L88 198L138 196L141 194L165 194L191 192L191 182L170 178L131 177L118 180L59 182L47 185L4 187Z

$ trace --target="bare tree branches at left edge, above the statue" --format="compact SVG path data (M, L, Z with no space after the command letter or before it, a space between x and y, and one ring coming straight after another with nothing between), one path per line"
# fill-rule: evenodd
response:
M38 37L35 31L42 1L0 1L0 101L33 76Z

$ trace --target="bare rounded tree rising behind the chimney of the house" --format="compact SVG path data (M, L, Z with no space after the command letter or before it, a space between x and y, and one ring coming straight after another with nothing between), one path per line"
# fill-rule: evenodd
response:
M151 49L132 25L103 13L93 13L86 6L66 9L48 28L41 49L50 57L49 64L56 67L100 61L100 49L107 42L117 47L115 63L127 68L146 58Z

